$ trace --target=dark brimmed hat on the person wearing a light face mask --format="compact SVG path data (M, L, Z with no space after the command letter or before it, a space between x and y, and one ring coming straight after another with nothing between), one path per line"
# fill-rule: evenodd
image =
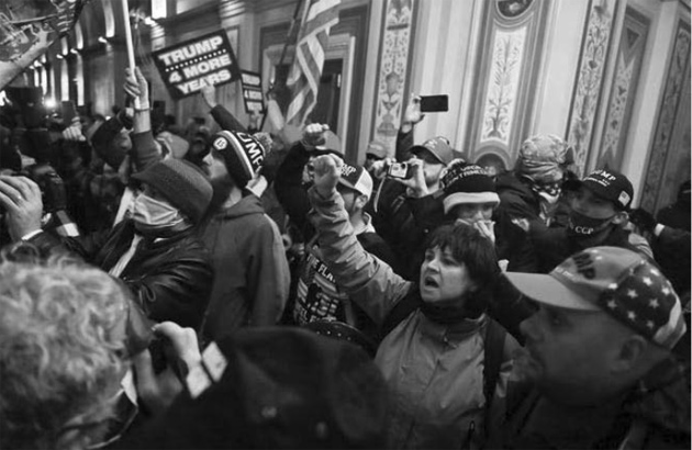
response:
M212 185L204 172L185 160L165 159L132 178L152 185L194 223L202 218L212 199Z

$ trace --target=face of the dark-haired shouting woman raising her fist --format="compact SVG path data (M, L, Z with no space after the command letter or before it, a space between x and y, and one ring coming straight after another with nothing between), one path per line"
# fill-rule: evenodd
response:
M457 261L448 248L425 250L421 265L421 297L427 303L453 302L476 289L466 265Z

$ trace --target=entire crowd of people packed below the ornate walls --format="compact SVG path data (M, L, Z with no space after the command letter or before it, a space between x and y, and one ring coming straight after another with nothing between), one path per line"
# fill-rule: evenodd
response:
M147 86L1 111L1 448L690 448L690 181L635 209L553 134L484 167L415 94L361 166Z

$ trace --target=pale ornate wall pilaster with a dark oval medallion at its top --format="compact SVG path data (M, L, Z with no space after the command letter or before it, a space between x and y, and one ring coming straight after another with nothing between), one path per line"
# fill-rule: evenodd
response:
M492 1L476 63L466 148L472 161L501 160L511 168L528 133L549 1Z

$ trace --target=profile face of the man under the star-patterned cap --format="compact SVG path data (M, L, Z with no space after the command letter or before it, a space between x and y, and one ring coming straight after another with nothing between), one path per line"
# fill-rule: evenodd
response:
M521 324L526 352L515 361L516 374L534 382L547 396L591 390L609 376L613 322L599 311L540 304L539 311Z

